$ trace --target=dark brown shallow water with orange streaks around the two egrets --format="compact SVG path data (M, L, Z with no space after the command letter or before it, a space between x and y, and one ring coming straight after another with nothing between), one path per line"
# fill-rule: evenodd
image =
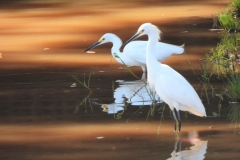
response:
M221 116L214 117L219 98L209 96L208 104L199 81L198 60L219 41L219 33L209 31L211 14L229 1L1 3L1 159L239 159L240 134L227 119L229 100L224 97ZM115 62L111 44L83 53L106 32L125 42L144 22L159 26L163 42L185 43L187 56L164 63L190 81L209 116L182 112L179 142L168 107L158 103L148 116L145 84ZM140 67L131 69L142 76ZM91 91L72 77L83 81L84 74L86 81L91 74ZM221 81L211 84L222 92Z

